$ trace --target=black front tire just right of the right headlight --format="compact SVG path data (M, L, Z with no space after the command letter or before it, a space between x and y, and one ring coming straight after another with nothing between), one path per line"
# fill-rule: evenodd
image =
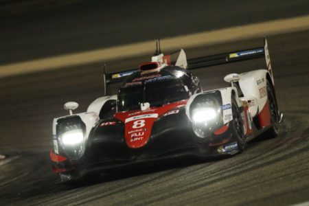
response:
M233 138L236 139L238 143L238 151L241 153L246 147L247 141L246 136L244 135L244 127L242 122L242 116L240 114L240 108L236 103L235 97L231 97L231 109L233 114L233 120L230 122L233 130Z

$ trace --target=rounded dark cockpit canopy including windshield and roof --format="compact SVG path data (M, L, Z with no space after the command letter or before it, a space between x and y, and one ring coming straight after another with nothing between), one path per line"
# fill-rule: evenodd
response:
M194 77L190 71L176 66L144 75L136 72L124 80L118 91L118 111L139 109L143 102L149 102L150 106L162 106L187 100L190 95L201 90L199 81L192 80Z

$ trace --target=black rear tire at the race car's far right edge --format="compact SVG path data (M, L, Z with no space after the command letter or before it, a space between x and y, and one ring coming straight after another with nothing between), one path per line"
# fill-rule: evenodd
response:
M269 113L271 114L271 128L266 132L266 135L268 138L275 138L279 133L279 111L273 87L268 80L266 81L266 91Z

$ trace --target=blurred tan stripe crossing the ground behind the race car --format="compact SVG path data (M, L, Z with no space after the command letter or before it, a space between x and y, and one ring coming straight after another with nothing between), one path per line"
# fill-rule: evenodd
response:
M253 23L250 25L241 25L229 27L210 32L201 32L164 38L161 44L167 50L196 47L201 45L211 45L214 43L235 41L241 38L253 38L264 36L265 34L280 34L284 32L308 30L309 15L299 16L290 19L280 19L266 21L262 23ZM138 56L150 53L153 50L155 40L128 45L108 47L104 49L95 49L88 52L79 52L75 54L65 54L38 60L17 62L0 66L0 78L5 76L14 76L22 73L35 71L45 71L51 69L60 69L76 65L86 65L93 62L104 62L105 60L115 60Z

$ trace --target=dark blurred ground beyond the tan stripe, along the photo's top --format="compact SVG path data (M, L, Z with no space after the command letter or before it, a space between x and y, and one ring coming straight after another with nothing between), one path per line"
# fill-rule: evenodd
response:
M309 10L307 0L45 0L46 7L43 2L25 5L32 8L28 12L17 7L18 14L0 15L0 65L300 16Z

